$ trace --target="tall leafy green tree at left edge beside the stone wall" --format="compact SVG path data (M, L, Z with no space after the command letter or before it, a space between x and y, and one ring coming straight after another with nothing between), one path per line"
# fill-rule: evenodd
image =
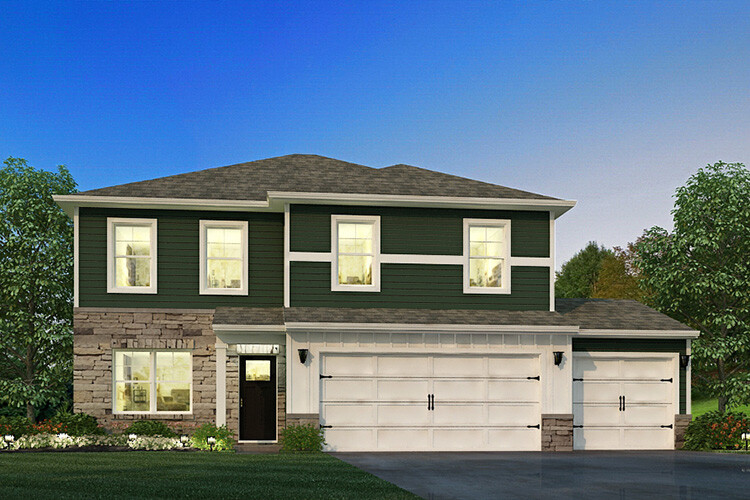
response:
M72 379L73 227L52 195L75 190L63 166L0 169L0 402L32 422Z

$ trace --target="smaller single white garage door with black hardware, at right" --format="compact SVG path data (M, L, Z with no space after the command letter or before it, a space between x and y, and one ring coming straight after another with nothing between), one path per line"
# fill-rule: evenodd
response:
M573 447L674 448L676 355L573 354Z

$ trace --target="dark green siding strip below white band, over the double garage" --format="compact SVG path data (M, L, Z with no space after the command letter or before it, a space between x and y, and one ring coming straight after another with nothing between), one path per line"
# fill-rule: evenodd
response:
M463 293L463 268L382 264L380 292L331 291L331 264L291 263L291 305L425 309L549 309L549 268L513 267L510 295Z

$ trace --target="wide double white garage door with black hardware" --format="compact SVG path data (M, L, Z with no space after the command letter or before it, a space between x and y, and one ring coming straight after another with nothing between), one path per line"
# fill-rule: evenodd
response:
M539 450L539 355L324 354L338 451Z

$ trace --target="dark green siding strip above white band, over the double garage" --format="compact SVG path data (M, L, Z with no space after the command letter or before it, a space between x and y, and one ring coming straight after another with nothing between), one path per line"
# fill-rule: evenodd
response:
M463 219L510 219L511 255L549 257L549 213L442 208L292 205L290 249L330 252L331 215L380 215L380 251L395 254L463 254Z

